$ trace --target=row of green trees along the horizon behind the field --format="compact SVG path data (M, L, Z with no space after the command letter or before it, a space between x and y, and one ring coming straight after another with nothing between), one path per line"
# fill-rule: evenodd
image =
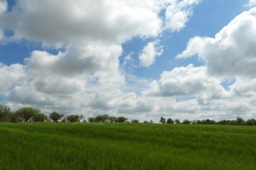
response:
M11 108L7 105L0 104L0 122L6 121L11 123L17 122L54 122L58 123L79 123L87 122L84 115L67 115L64 116L61 113L53 111L49 116L44 115L38 108L34 107L23 107L19 108L17 111L11 111ZM139 119L132 119L132 121L127 121L127 118L124 116L109 116L109 115L98 115L95 117L88 118L90 123L140 123ZM221 120L215 121L210 119L203 120L193 120L189 121L184 119L182 122L179 119L171 118L160 118L160 123L167 124L226 124L226 125L244 125L244 126L256 126L256 119L244 120L240 117L237 117L236 120ZM143 123L153 123L150 121L143 121Z

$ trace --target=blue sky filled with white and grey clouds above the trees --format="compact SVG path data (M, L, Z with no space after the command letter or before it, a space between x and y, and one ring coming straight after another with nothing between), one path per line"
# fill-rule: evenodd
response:
M255 0L0 0L0 102L86 118L256 118L255 46Z

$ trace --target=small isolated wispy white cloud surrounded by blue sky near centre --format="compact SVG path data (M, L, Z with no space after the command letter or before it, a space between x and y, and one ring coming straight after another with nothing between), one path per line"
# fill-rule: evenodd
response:
M160 41L157 39L143 48L139 59L141 67L149 67L155 63L155 58L163 54L163 46L160 46Z

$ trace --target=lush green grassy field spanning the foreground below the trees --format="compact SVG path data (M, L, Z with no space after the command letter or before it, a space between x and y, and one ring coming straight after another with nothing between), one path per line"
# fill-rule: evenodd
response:
M0 123L0 169L256 169L256 127Z

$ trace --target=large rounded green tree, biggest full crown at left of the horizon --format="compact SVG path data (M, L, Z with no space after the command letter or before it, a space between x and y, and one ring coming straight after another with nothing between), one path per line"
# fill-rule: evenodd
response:
M40 113L40 110L38 108L33 107L23 107L17 110L16 113L20 115L23 121L31 122L34 119L34 116Z

